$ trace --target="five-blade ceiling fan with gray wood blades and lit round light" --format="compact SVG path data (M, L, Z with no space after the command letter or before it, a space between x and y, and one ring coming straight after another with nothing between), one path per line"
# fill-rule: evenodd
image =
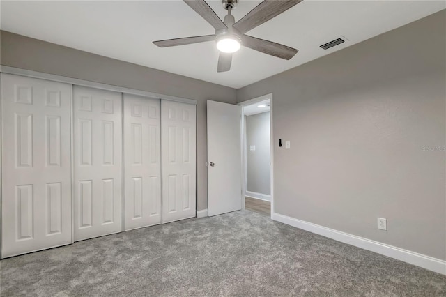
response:
M247 36L245 33L254 29L256 26L271 20L273 17L295 6L302 0L263 1L256 6L256 8L249 11L247 15L238 20L238 22L236 22L233 15L231 15L231 10L236 8L238 0L222 0L223 8L228 10L228 14L224 17L223 22L206 1L183 1L215 28L215 34L158 40L153 41L153 44L158 47L173 47L176 45L190 45L192 43L203 43L215 40L217 49L220 50L217 65L217 72L219 73L231 69L232 53L237 52L240 49L240 45L286 60L293 58L298 52L298 50L293 49L293 47L287 47L286 45L280 45L279 43L273 43L272 41Z

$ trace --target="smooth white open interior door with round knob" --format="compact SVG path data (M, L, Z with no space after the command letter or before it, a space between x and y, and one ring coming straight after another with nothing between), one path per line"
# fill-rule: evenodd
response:
M208 215L242 207L242 107L208 100Z

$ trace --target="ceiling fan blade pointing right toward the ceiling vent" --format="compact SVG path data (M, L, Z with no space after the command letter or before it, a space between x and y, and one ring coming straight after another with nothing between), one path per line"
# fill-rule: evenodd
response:
M257 50L264 54L270 54L271 56L277 56L278 58L286 60L293 58L298 52L298 50L293 49L293 47L287 47L286 45L280 45L279 43L273 43L272 41L247 35L242 36L242 45L249 47L252 50Z

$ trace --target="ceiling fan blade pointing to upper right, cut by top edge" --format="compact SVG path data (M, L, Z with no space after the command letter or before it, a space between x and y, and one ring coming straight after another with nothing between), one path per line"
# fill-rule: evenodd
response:
M285 10L292 8L302 0L266 0L260 3L256 8L249 11L247 15L242 17L233 25L240 33L254 29L256 26L271 20L273 17L280 15Z

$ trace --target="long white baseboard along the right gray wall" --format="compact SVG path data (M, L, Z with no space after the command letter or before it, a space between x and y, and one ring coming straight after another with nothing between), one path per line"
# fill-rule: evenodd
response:
M311 222L305 222L302 220L288 217L286 215L280 215L279 213L272 213L271 218L272 220L275 220L277 222L289 224L299 229L303 229L315 234L332 238L335 241L341 241L342 243L354 245L357 248L363 248L364 250L369 250L371 252L383 254L387 257L398 259L400 261L404 261L409 264L420 266L430 271L435 271L436 273L441 273L443 275L446 275L446 261L443 261L441 259L429 257L424 254L419 254L417 252L411 252L410 250L404 250L402 248L397 248L392 245L386 245L385 243L379 243L378 241L372 241L367 238L344 233L341 231L320 226L318 224L313 224Z

